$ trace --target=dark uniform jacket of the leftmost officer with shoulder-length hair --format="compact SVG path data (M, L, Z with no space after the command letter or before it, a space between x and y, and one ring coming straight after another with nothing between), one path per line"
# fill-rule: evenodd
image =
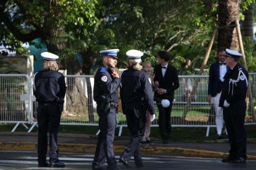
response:
M66 83L62 73L57 71L39 71L34 75L34 95L38 103L63 101Z

